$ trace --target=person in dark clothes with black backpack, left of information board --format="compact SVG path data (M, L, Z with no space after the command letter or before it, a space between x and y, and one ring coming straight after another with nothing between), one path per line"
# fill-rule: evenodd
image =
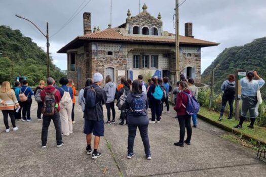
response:
M226 106L226 103L228 101L229 107L230 107L230 114L228 119L232 120L233 117L233 104L235 100L236 95L236 82L235 82L235 75L230 74L227 78L227 80L223 81L221 85L221 90L223 92L222 94L222 103L221 103L221 110L220 110L220 117L219 121L221 121L223 118L223 112Z

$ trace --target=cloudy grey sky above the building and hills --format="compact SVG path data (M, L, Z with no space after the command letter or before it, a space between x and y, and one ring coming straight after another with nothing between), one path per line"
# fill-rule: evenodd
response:
M183 1L179 0L180 3ZM146 3L147 11L155 17L161 12L164 30L174 33L175 0L140 0L140 3L141 7ZM112 0L112 27L125 22L128 9L132 16L137 15L138 0ZM19 29L46 50L46 38L15 14L30 19L44 32L46 22L49 22L50 36L56 33L50 38L51 55L54 63L65 70L66 55L56 52L83 34L83 12L92 13L92 27L105 29L110 23L110 0L0 0L0 25ZM242 46L266 36L265 0L186 0L179 9L179 16L180 35L184 35L184 23L193 22L195 38L220 43L218 47L202 49L202 72L225 48ZM71 17L74 17L72 21L64 25Z

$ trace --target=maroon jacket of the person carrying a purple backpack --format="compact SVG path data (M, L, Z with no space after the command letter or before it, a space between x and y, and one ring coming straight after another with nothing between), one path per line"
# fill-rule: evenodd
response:
M192 95L191 91L183 92ZM178 93L176 98L176 105L174 107L174 110L177 112L177 115L187 115L186 108L183 105L187 105L188 97L183 92Z

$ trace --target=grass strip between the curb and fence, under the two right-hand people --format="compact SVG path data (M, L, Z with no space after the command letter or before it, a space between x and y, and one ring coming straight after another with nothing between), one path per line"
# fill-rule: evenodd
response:
M222 121L218 121L220 114L208 110L207 108L204 107L201 107L199 114L204 117L207 117L208 119L211 119L212 121L215 121L219 124L225 125L230 128L233 128L239 122L234 118L233 120L228 120L226 116L224 116L224 119ZM260 140L262 142L266 142L266 128L255 125L254 129L250 129L247 127L249 124L250 122L244 122L243 129L238 129L241 132L241 134L248 135L249 137L252 137L254 140Z

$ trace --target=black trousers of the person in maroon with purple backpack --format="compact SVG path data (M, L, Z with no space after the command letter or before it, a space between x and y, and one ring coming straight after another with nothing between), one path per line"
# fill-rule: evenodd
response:
M184 143L184 137L185 137L185 128L187 133L186 141L191 141L192 136L192 127L191 127L191 116L190 115L179 115L178 116L178 122L180 127L180 138L179 143Z

